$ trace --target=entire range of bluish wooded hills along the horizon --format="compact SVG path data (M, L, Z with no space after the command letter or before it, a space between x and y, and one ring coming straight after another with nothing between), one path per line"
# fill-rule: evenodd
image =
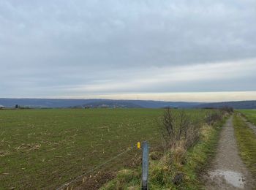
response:
M18 104L22 107L34 108L67 108L67 107L127 107L127 108L204 108L229 106L235 109L256 109L256 101L239 102L165 102L151 100L112 100L112 99L6 99L0 98L0 104L5 107L15 107Z

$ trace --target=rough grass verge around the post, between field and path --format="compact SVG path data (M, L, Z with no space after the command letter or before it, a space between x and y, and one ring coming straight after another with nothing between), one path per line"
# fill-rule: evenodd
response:
M149 166L150 189L202 189L200 173L206 168L217 150L219 132L225 122L223 119L214 126L204 125L200 130L200 140L195 146L185 151L178 147L168 151L160 159L151 153ZM117 177L105 183L101 190L140 189L141 169L124 169Z

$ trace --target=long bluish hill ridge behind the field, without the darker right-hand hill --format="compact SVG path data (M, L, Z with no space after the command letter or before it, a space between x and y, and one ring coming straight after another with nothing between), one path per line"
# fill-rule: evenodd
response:
M112 99L6 99L0 98L0 104L5 107L61 108L61 107L182 107L191 108L198 102L164 102L147 100L112 100Z

